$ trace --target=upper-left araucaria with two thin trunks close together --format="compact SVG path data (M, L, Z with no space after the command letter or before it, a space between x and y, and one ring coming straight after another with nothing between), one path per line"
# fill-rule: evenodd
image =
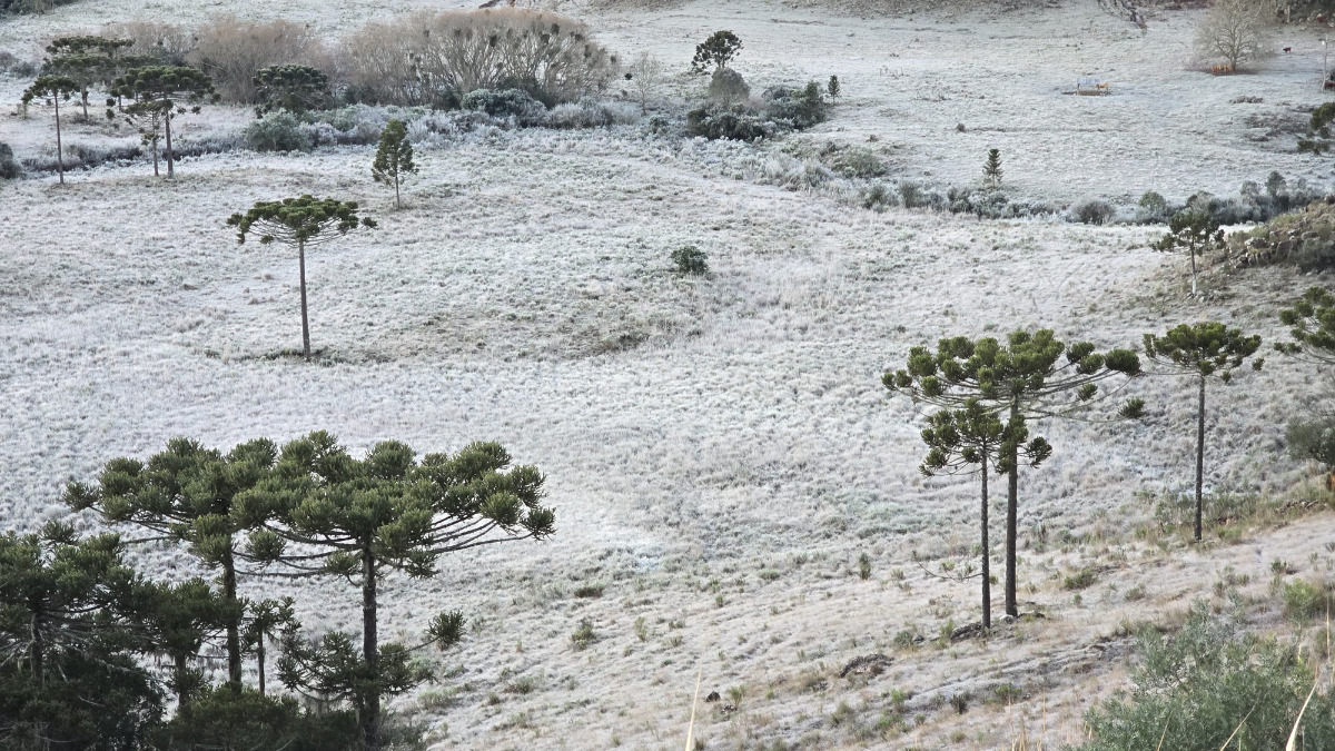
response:
M154 175L158 175L158 131L163 131L168 178L175 175L171 122L176 115L186 114L186 108L179 106L178 100L196 103L191 111L199 114L199 102L219 99L207 75L184 65L134 68L112 82L111 94L134 100L134 104L125 107L125 115L139 126L146 143L154 147Z

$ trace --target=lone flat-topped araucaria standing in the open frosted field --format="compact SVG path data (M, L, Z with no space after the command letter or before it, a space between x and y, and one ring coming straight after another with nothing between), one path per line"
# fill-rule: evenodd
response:
M306 247L346 235L358 227L375 227L370 216L358 216L356 203L334 198L284 198L256 202L246 214L232 214L227 226L236 227L236 242L244 243L250 234L259 235L260 245L279 242L296 247L302 278L302 355L311 358L311 327L306 314Z

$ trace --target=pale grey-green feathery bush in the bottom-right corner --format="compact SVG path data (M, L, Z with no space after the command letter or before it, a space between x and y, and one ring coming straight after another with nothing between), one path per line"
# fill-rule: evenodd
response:
M1203 601L1177 633L1141 632L1136 652L1129 695L1088 715L1093 740L1083 751L1284 748L1312 688L1311 651L1248 633L1227 616L1212 616ZM1300 739L1296 748L1335 747L1328 690L1303 712Z

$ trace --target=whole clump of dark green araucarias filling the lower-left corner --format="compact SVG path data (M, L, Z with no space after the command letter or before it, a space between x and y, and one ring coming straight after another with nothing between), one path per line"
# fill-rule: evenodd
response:
M356 458L316 432L227 453L179 438L148 461L112 460L71 484L65 502L124 537L80 537L59 521L0 537L0 748L388 747L383 699L429 679L419 652L458 643L465 619L445 612L415 643L383 643L386 577L433 576L442 556L550 536L542 497L538 469L514 466L497 444L419 456L386 441ZM147 543L216 579L150 579L127 559ZM254 576L351 584L359 629L307 629L291 599L242 597ZM216 686L202 667L214 653L226 673ZM272 668L287 694L272 695ZM326 711L303 711L296 696Z

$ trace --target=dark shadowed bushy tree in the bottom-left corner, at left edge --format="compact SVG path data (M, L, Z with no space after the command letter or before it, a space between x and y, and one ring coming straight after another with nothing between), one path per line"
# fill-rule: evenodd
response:
M0 536L0 747L132 748L162 714L135 659L146 587L115 535Z

